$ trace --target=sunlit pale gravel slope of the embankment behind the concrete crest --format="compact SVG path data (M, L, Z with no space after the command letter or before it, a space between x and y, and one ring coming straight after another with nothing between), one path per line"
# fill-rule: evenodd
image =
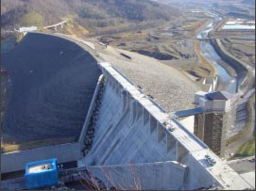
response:
M130 56L129 60L123 53ZM135 85L151 95L166 112L194 107L194 96L200 88L181 72L160 61L136 53L108 47L99 55L126 75Z

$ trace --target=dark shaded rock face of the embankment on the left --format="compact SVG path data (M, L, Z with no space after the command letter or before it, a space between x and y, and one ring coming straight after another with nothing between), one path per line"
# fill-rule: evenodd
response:
M70 40L28 33L2 63L11 79L4 137L79 135L100 75L93 56Z

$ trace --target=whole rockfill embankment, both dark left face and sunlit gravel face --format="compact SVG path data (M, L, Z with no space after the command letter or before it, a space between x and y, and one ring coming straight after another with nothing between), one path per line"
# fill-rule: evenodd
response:
M100 74L97 61L110 62L167 112L193 107L199 88L155 58L96 42L92 50L71 37L61 38L67 40L30 34L3 56L13 82L5 135L22 141L77 136Z

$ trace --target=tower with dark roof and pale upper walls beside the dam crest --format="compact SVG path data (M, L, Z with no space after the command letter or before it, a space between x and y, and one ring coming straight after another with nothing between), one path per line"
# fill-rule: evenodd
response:
M225 91L198 92L195 97L204 112L195 115L194 134L220 157L225 156L230 98Z

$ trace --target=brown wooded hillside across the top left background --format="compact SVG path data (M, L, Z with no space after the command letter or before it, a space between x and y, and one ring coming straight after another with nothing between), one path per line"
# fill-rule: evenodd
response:
M42 27L69 19L72 24L94 32L130 23L157 24L178 15L179 10L149 0L1 0L3 29Z

